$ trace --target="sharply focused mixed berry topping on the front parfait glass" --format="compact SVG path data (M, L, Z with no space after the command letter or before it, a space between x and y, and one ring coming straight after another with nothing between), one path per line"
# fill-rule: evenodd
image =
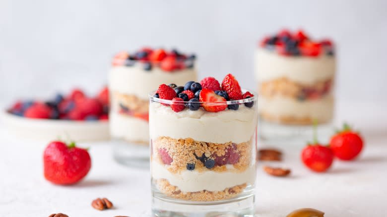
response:
M186 108L198 110L200 107L206 111L218 112L225 109L238 110L241 103L237 100L252 98L254 95L250 92L242 93L238 81L232 74L228 74L222 84L213 77L206 77L200 82L189 81L184 86L162 84L154 97L171 100L167 106L171 106L176 112ZM252 108L254 101L243 104Z

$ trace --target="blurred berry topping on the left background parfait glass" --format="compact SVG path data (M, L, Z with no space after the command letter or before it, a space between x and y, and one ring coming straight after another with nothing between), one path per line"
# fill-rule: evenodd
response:
M164 49L143 48L133 54L120 52L113 58L113 66L141 65L145 71L151 71L153 67L160 67L163 71L172 72L194 67L195 55L182 54L176 49L166 51Z

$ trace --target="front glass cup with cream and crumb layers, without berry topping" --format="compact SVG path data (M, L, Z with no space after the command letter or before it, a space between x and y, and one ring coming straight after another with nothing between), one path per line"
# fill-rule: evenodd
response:
M200 107L175 112L172 101L153 94L149 95L152 216L253 217L257 95L195 102L239 104L238 110L208 112Z

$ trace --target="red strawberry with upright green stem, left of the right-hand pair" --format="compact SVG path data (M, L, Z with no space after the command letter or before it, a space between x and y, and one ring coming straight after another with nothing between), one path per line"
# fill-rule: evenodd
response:
M312 144L302 150L301 159L313 171L324 172L333 162L333 152L326 146Z

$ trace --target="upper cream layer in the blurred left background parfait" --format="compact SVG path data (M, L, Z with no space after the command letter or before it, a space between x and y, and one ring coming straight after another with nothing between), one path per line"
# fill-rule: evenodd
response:
M109 89L148 99L148 94L156 90L160 84L184 85L191 80L197 80L197 73L194 68L166 72L159 67L153 67L152 70L145 71L140 64L116 66L109 72Z

